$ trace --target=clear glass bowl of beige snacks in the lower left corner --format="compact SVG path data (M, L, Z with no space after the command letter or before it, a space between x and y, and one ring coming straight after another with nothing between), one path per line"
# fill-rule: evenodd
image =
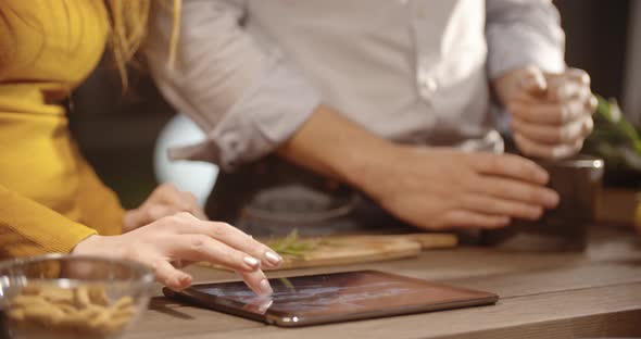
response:
M48 254L0 262L0 338L120 338L154 275L128 261Z

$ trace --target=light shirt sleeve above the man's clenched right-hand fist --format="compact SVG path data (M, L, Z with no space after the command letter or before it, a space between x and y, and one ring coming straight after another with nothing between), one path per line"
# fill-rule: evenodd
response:
M565 34L551 0L487 0L486 10L491 79L530 64L565 70Z

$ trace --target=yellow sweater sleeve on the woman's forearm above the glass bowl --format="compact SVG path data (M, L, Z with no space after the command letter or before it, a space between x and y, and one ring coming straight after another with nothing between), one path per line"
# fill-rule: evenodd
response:
M68 253L96 230L0 186L0 256Z

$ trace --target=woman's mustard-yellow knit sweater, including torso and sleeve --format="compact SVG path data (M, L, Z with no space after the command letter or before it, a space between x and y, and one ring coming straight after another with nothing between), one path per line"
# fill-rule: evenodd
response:
M60 102L98 64L101 0L0 2L0 258L121 233L123 210L78 153Z

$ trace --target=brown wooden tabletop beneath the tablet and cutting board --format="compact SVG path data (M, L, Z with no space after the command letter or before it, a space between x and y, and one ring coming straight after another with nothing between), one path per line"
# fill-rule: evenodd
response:
M497 305L299 329L278 328L156 297L134 338L641 338L641 247L627 229L594 228L585 253L505 253L483 248L417 259L303 269L376 268L501 296ZM191 269L198 281L234 278Z

